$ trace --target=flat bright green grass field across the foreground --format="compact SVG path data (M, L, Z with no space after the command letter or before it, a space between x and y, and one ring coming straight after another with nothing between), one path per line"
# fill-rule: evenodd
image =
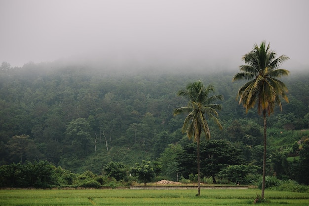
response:
M0 206L252 206L257 189L0 190ZM308 206L309 193L265 191L267 206Z

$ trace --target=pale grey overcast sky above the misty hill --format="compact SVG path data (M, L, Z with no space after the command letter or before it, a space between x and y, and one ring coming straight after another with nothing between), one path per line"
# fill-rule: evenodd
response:
M85 57L238 69L266 40L293 70L309 65L308 9L309 0L0 0L0 63Z

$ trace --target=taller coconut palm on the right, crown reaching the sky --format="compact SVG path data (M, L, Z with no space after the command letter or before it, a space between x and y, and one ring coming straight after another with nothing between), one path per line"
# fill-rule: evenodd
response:
M275 58L277 54L270 50L270 44L266 46L262 41L260 46L254 44L253 49L242 57L246 65L241 65L242 72L233 77L235 80L249 80L238 91L240 98L239 104L243 104L248 109L258 104L258 113L263 113L264 124L264 152L263 152L263 174L262 174L262 193L264 199L265 190L265 167L266 167L266 113L270 116L274 112L274 106L277 104L282 111L280 96L288 102L286 96L286 85L278 80L278 77L287 76L288 70L278 69L278 67L289 57L281 55Z

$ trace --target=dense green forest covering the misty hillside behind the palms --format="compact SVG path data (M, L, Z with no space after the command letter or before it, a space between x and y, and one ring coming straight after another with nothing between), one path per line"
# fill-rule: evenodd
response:
M267 175L309 184L304 179L309 176L309 73L289 70L281 79L289 103L282 102L283 111L276 108L267 117ZM217 102L223 129L209 122L211 140L201 144L202 173L213 182L228 169L261 174L263 120L256 108L246 114L238 104L243 82L232 82L237 72L134 65L121 70L63 62L12 68L3 62L0 166L47 161L75 173L101 175L111 163L134 168L145 160L159 162L160 175L170 180L178 174L193 178L196 145L181 132L185 116L174 116L173 110L187 104L177 91L200 80L223 96Z

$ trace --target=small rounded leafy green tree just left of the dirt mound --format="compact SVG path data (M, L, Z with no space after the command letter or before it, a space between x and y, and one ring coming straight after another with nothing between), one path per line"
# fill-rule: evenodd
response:
M142 165L139 163L135 164L135 167L130 168L130 172L137 176L137 178L144 182L144 185L146 186L146 183L149 182L154 177L154 169L151 166L150 161L142 161Z

